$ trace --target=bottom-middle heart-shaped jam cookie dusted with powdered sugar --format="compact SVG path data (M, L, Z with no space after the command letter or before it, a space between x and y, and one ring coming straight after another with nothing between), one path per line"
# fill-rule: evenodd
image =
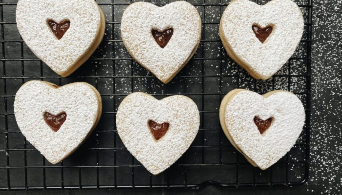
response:
M199 112L185 96L158 100L136 92L121 102L116 127L128 151L157 175L189 148L198 132Z

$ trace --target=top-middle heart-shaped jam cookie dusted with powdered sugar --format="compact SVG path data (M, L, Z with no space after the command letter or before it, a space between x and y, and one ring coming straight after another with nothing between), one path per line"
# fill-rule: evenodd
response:
M136 2L122 16L121 37L129 54L167 83L195 53L201 39L201 18L186 1L163 7Z

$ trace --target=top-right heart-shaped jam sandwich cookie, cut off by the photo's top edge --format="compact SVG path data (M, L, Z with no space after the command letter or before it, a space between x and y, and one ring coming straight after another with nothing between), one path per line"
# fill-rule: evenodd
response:
M303 16L292 0L258 5L234 0L222 14L219 35L231 59L256 79L272 77L295 52Z

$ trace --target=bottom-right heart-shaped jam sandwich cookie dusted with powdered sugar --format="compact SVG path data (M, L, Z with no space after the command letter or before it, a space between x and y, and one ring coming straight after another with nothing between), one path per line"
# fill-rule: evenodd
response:
M305 120L299 98L281 90L261 96L235 89L223 98L219 116L229 141L252 165L262 170L291 149Z

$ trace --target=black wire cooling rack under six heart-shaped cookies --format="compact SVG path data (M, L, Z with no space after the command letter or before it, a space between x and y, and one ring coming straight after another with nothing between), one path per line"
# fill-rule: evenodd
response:
M75 73L61 78L27 48L15 23L17 0L0 0L0 189L196 188L299 185L308 178L312 1L295 0L304 17L304 34L295 54L272 78L251 78L231 60L218 36L219 20L231 0L189 0L202 18L202 38L190 62L168 84L136 63L120 37L120 21L129 0L97 0L106 15L100 47ZM151 0L157 5L168 0ZM171 2L171 1L170 1ZM267 1L259 0L259 4ZM102 118L85 143L52 165L22 136L13 114L15 93L26 81L58 85L85 81L102 94ZM306 111L296 145L265 171L250 165L222 133L218 110L222 97L235 88L258 93L282 89L295 93ZM189 150L171 168L151 175L129 154L117 134L115 114L128 94L142 91L156 98L183 94L192 98L201 117Z

